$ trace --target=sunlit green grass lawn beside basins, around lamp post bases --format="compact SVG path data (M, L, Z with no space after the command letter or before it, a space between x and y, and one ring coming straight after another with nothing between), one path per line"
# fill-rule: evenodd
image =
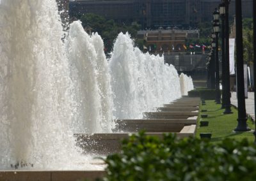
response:
M232 106L232 114L224 115L224 109L220 109L221 105L216 105L214 101L205 101L205 105L200 107L200 115L207 114L207 118L201 118L199 115L198 127L196 129L196 137L200 138L200 133L212 133L212 142L219 142L223 138L234 138L236 140L242 140L243 138L248 138L250 142L253 142L254 135L253 131L239 132L233 131L237 126L237 110ZM207 110L207 112L202 113L201 110ZM209 121L209 126L200 127L200 120ZM247 120L248 127L255 129L253 122Z

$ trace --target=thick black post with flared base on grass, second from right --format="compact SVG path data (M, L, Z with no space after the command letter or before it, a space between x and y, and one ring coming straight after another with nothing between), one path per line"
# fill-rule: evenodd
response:
M246 108L244 96L244 60L243 60L243 29L242 1L236 0L236 78L237 78L237 110L238 119L235 131L249 131L246 124Z

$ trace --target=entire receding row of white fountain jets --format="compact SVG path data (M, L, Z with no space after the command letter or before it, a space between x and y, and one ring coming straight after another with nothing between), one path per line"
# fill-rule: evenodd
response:
M111 133L114 119L141 118L193 89L128 33L110 59L81 22L63 33L55 0L0 1L0 64L0 170L77 169L90 158L74 133Z

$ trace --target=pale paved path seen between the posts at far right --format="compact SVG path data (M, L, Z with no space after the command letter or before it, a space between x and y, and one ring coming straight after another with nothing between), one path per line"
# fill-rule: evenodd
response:
M237 97L236 92L231 93L231 104L237 107ZM254 112L254 92L248 92L248 99L245 99L246 113L248 113L253 120L255 120Z

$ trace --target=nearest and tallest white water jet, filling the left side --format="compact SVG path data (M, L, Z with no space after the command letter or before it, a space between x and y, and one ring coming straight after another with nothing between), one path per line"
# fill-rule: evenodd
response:
M60 170L86 160L71 131L74 85L56 7L1 1L0 169Z

